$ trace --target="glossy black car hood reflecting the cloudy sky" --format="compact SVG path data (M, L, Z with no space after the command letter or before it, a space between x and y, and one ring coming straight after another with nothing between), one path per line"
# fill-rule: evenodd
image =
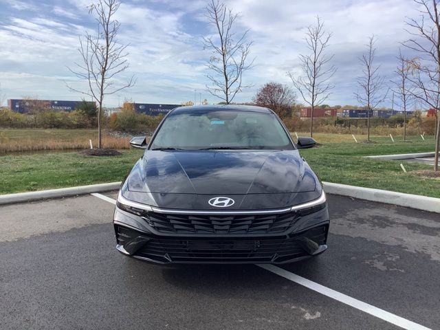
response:
M146 151L128 190L248 195L309 192L320 184L298 151Z

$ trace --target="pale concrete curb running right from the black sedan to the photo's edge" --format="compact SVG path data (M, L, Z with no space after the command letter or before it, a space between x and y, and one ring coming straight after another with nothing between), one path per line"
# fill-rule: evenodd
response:
M440 198L404 194L402 192L389 190L348 186L347 184L332 184L330 182L323 182L322 184L324 184L324 190L328 194L354 197L366 201L395 204L406 208L415 208L416 210L440 213Z

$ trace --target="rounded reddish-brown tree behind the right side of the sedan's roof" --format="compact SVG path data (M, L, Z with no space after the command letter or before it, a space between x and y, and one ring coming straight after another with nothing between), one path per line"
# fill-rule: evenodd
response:
M253 102L272 109L281 118L292 116L292 107L296 95L289 86L278 83L266 83L253 98Z

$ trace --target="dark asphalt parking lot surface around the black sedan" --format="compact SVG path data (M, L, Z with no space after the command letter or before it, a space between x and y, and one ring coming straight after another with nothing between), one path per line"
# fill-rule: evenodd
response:
M440 329L439 214L329 195L316 259L171 267L115 250L106 195L0 207L1 329Z

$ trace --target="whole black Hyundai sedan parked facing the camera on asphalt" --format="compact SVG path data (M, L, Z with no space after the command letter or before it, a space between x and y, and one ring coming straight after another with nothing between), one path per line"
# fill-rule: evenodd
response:
M289 263L327 249L318 177L270 109L170 111L122 184L116 248L154 263Z

